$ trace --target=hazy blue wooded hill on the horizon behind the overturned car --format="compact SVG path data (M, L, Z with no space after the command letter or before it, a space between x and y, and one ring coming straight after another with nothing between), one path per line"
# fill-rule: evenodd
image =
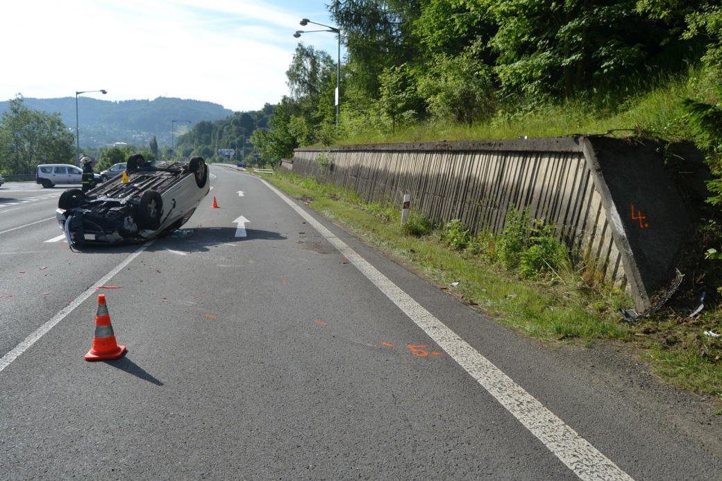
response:
M63 122L75 133L75 97L30 98L23 102L32 110L60 113ZM0 113L9 110L9 100L0 102ZM170 145L171 121L175 136L181 135L201 121L217 121L233 111L222 105L201 100L157 97L155 100L122 100L112 102L92 97L78 97L81 147L100 147L115 142L147 145L156 136L160 146Z

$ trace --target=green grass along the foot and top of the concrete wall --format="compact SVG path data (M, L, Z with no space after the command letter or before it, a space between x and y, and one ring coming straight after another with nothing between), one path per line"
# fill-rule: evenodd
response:
M585 105L572 103L471 127L427 123L393 136L360 132L343 139L342 143L548 137L610 129L643 130L669 140L689 139L691 133L682 120L680 100L693 97L697 92L700 92L700 83L690 77L630 101L614 115L595 113ZM677 299L673 298L650 319L625 324L620 322L617 309L632 307L632 300L625 293L595 283L593 273L586 272L584 267L572 268L566 264L536 280L525 279L520 269L503 267L498 253L493 252L499 239L490 239L487 235L475 239L466 248L455 249L449 246L444 226L436 226L427 235L410 235L401 229L400 212L396 209L364 204L352 192L290 173L267 178L292 196L306 199L310 207L365 238L367 243L414 267L474 308L494 316L500 324L548 342L627 342L638 348L640 356L651 361L664 381L722 400L722 338L704 334L705 331L722 333L716 291L722 285L719 282L722 275L718 273L722 261L703 259L703 241L694 253L699 264L693 272L684 272L687 277ZM716 226L700 228L697 237L713 242L712 245L722 242ZM451 282L456 281L458 285L451 287ZM683 310L695 308L698 288L703 282L707 289L705 311L690 319L689 311Z

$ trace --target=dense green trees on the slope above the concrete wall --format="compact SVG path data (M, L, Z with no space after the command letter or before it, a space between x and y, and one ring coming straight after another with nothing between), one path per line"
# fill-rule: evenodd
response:
M478 126L539 136L493 128L552 110L604 126L680 78L696 82L695 95L677 98L686 110L668 118L662 134L708 146L719 139L711 121L722 82L718 1L334 0L329 12L348 52L339 129L336 59L299 43L287 71L290 95L256 139L264 160L291 157L303 145L440 140L449 126L466 126L470 136ZM705 121L695 124L695 111Z

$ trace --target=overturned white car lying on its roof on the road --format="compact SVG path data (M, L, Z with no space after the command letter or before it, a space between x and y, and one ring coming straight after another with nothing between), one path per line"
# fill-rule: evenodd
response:
M193 215L210 191L203 157L190 162L147 162L131 155L126 175L83 193L69 188L56 218L71 246L142 242L170 235Z

